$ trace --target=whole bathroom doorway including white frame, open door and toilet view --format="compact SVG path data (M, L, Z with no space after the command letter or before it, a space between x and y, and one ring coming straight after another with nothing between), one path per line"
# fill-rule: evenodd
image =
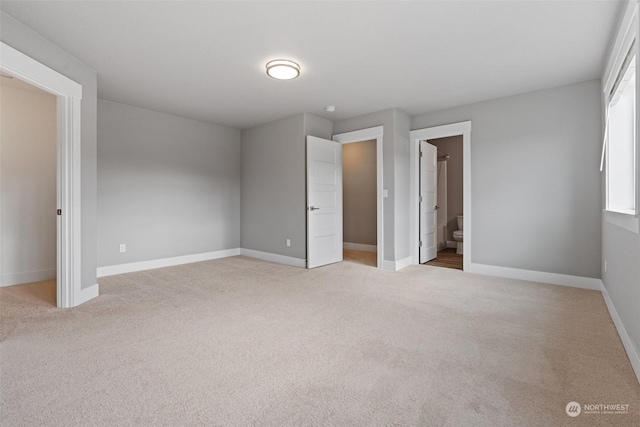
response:
M457 165L452 161L454 153L459 160ZM459 268L459 255L462 255L462 269L469 271L472 238L471 122L411 131L410 159L412 263L424 264L441 258L436 263ZM462 169L461 178L459 172L451 173L452 170L459 171L460 168ZM440 198L438 198L438 187L440 187ZM460 191L461 205L459 204ZM443 212L440 212L441 205Z

